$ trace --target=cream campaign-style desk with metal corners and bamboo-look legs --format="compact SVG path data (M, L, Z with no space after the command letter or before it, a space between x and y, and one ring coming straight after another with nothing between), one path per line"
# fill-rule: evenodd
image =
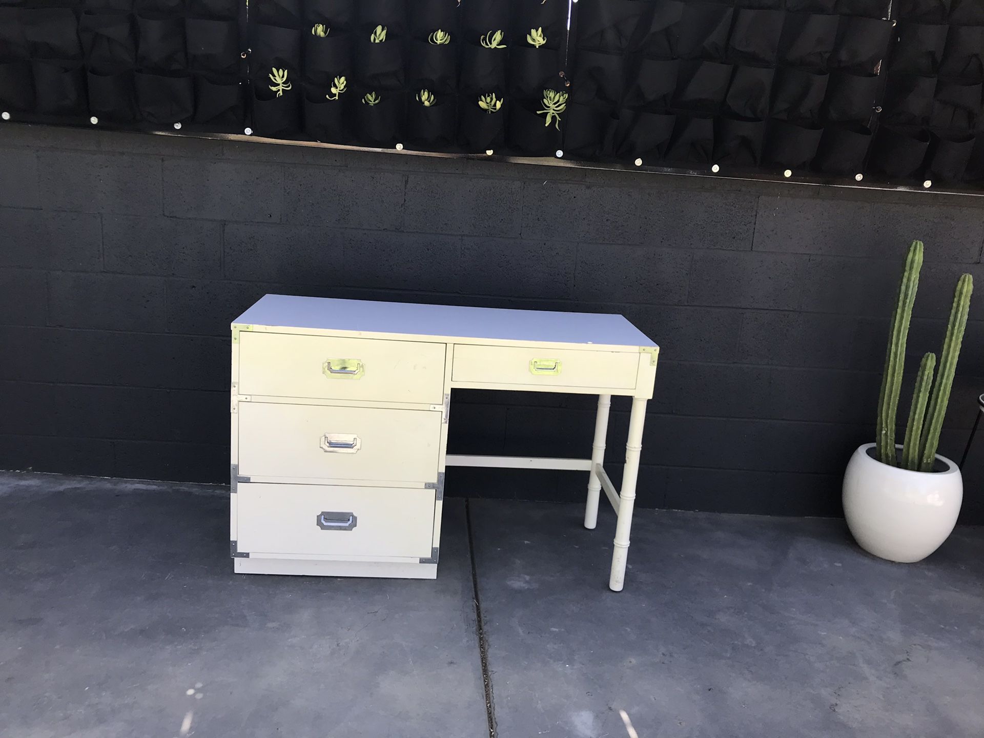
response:
M658 351L620 315L263 297L232 324L235 571L433 579L447 466L581 469L584 526L601 491L618 515L622 589ZM597 395L590 459L449 456L455 388ZM633 398L621 491L612 395Z

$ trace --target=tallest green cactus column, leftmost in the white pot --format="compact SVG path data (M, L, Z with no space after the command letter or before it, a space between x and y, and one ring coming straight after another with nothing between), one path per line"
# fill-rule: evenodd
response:
M905 269L898 284L898 301L892 316L889 350L885 357L885 375L882 377L882 391L878 398L878 438L876 448L882 463L896 465L895 460L895 413L898 408L898 394L902 387L902 369L905 363L905 339L909 333L912 318L912 303L916 299L919 286L919 270L922 268L922 241L913 241L905 257Z

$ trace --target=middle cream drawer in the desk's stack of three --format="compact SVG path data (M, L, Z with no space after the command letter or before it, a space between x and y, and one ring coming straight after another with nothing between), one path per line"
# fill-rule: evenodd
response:
M240 402L238 416L241 476L437 481L439 410Z

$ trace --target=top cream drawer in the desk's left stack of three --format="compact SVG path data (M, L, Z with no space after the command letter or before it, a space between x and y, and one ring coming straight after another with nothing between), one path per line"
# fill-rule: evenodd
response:
M444 343L243 331L240 395L444 402Z

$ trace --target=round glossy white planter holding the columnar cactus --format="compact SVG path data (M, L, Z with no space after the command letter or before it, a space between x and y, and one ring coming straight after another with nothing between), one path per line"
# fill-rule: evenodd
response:
M947 540L963 501L953 461L937 455L940 471L909 471L877 461L875 444L854 452L844 472L847 526L858 544L889 561L921 561ZM871 453L869 453L871 452Z

